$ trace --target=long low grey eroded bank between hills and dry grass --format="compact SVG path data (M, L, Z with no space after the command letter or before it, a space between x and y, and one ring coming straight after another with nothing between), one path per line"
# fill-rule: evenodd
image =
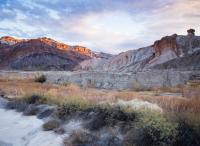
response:
M149 89L157 87L174 87L187 83L192 76L200 71L146 70L137 73L109 73L97 71L66 72L8 72L1 71L0 78L12 79L34 78L44 74L47 82L64 84L75 83L83 87L101 89Z

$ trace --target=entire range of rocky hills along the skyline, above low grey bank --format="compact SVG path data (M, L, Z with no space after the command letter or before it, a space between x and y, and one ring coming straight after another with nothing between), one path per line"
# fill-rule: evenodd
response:
M200 36L194 29L188 35L166 36L153 45L112 56L70 46L50 38L0 39L0 69L93 70L107 72L149 69L200 70Z

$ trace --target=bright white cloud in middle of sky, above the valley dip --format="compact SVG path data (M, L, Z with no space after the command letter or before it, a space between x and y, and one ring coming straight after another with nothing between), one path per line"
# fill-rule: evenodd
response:
M67 28L70 28L68 32L76 33L79 37L77 40L88 42L85 45L110 53L121 51L120 44L126 40L136 40L145 29L128 13L121 11L93 13L76 20L76 25L67 25L65 30Z

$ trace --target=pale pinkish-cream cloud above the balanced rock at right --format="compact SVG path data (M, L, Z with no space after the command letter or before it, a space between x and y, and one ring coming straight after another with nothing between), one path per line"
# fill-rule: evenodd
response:
M149 30L155 30L155 35L186 34L188 28L195 28L198 33L200 17L197 16L200 14L199 7L200 1L198 0L178 0L172 5L155 11L148 20L148 28Z

